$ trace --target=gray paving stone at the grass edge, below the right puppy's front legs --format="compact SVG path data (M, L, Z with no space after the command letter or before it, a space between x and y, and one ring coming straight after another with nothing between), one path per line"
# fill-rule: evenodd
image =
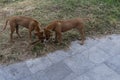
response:
M68 54L67 52L64 52L62 50L59 50L54 53L48 54L47 56L53 63L57 63L65 58L69 57L70 54Z

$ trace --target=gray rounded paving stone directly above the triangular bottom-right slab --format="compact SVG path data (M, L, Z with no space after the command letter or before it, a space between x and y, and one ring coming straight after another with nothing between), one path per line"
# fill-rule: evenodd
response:
M83 52L82 54L84 56L88 56L89 60L95 64L100 64L110 57L110 55L95 46Z

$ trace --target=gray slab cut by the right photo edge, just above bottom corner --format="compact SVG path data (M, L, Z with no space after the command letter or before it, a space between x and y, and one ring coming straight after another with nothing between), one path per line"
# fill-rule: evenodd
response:
M110 58L105 64L120 74L120 55Z

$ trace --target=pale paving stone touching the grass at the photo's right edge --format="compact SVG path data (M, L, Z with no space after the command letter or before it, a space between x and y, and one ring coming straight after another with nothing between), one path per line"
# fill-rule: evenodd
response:
M107 36L106 38L100 39L101 43L97 45L97 47L103 49L109 55L114 56L120 54L120 36L113 34Z

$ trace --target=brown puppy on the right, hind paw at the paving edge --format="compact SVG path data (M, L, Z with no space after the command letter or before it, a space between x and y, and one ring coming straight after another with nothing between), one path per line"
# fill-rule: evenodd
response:
M76 28L81 33L82 37L81 45L83 45L85 40L83 19L76 18L71 20L53 21L47 27L44 28L44 32L46 39L48 40L51 36L51 31L55 31L55 40L61 43L62 32L66 32L73 28Z

